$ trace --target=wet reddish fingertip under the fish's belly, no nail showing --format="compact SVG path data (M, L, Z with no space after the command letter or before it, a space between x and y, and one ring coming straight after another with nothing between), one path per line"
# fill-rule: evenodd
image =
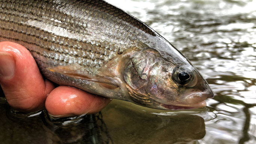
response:
M70 117L100 111L111 100L69 86L59 86L47 97L45 108L54 117Z

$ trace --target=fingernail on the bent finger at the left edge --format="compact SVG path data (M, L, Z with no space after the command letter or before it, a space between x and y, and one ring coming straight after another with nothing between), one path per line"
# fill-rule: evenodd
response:
M0 78L11 79L15 72L15 62L12 54L0 52Z

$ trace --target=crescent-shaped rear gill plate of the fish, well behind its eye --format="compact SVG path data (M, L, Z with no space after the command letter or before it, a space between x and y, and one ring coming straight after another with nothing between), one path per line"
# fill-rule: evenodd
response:
M123 76L131 99L139 105L152 105L145 87L148 84L151 68L160 61L156 55L159 56L159 53L151 49L138 51L130 58L124 70Z

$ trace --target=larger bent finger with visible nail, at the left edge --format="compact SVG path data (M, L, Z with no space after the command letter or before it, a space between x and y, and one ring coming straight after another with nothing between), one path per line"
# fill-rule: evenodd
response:
M54 89L42 78L30 52L13 42L0 42L0 84L9 105L25 112L44 108L48 93Z

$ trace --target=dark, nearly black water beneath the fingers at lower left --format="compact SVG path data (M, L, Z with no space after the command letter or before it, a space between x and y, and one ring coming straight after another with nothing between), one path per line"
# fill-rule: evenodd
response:
M29 116L1 105L0 112L1 144L113 144L101 113L62 125L64 118L51 120L45 111Z

